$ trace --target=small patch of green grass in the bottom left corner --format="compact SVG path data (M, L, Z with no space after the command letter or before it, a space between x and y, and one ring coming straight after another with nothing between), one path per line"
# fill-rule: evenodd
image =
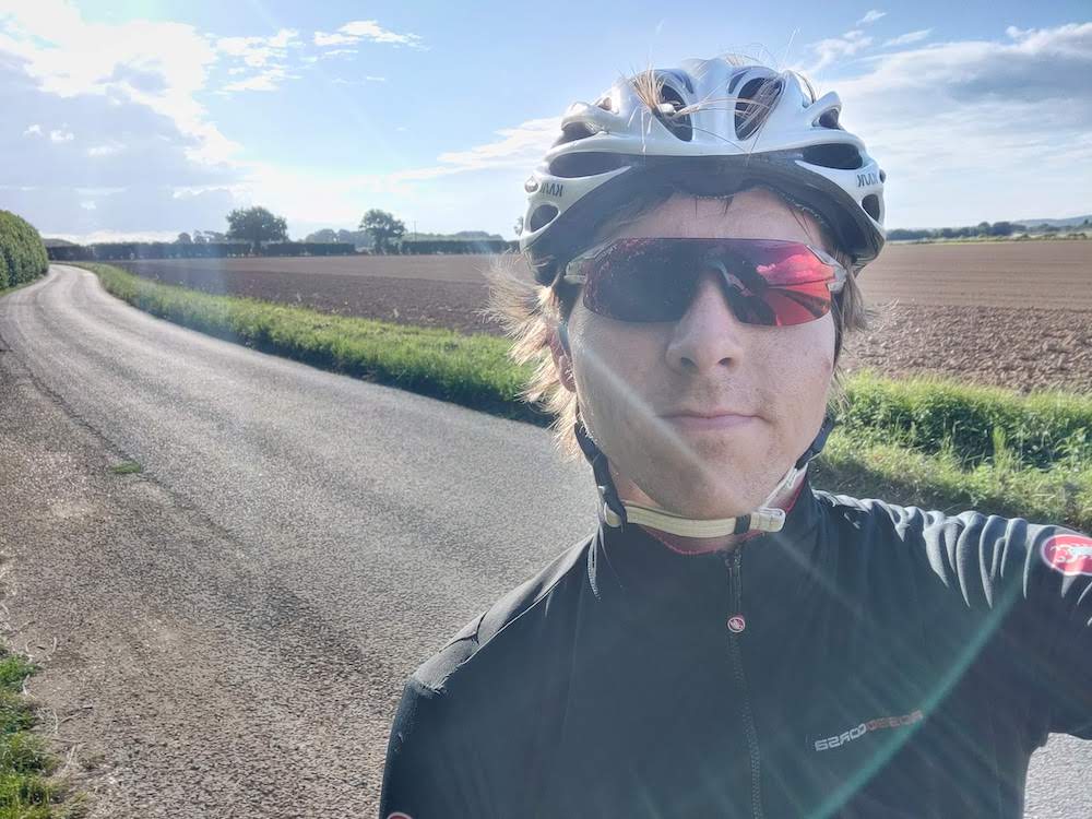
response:
M50 779L57 758L33 732L33 707L22 695L24 680L36 670L0 649L0 819L74 819L86 803Z

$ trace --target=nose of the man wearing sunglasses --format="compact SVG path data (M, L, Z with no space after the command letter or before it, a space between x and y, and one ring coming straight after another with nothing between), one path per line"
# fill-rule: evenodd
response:
M697 375L731 367L743 355L745 330L732 312L720 278L705 271L686 314L675 324L667 363L679 372Z

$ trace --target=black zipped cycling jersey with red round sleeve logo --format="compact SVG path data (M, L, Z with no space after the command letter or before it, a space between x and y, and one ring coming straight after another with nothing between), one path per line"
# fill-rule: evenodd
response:
M410 678L380 816L1018 819L1092 738L1090 577L1069 530L807 484L732 551L601 523Z

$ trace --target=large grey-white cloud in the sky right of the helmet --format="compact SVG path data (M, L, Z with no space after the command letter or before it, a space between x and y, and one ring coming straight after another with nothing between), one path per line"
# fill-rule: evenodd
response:
M842 122L888 173L889 224L1088 210L1092 23L1007 34L878 55L838 83Z

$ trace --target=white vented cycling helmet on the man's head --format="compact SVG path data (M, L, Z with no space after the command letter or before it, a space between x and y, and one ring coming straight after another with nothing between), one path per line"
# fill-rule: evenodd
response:
M520 249L548 285L642 190L727 195L761 186L819 217L857 272L883 246L886 175L839 123L841 110L838 94L816 99L794 72L728 58L620 79L565 112L524 185Z

